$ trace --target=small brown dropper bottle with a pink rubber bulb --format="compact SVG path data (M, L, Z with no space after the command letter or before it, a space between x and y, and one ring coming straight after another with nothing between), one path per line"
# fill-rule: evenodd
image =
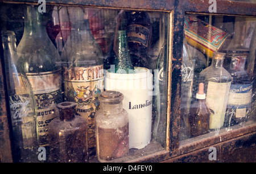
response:
M207 134L209 132L210 110L205 104L204 84L199 84L196 101L191 105L189 124L191 137Z

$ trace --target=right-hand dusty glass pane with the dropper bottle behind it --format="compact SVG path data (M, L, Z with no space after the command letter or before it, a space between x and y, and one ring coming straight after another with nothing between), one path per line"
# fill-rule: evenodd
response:
M181 112L180 140L255 121L255 31L255 18L185 16L183 52L191 57L193 77L181 92L192 90L184 95L187 105L181 103L187 112Z

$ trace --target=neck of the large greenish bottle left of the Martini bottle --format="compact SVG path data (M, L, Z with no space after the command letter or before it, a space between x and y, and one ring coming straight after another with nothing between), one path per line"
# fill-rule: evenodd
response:
M24 13L24 34L39 37L47 34L46 24L42 18L43 15L38 12L36 7L27 6Z

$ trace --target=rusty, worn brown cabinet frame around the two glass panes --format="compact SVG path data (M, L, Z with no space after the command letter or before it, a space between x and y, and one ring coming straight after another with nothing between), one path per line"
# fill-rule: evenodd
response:
M0 0L0 5L1 3L38 4L38 1ZM185 13L256 16L256 2L247 3L216 0L216 13L209 13L210 3L208 0L52 0L46 1L46 3L51 5L82 5L99 8L164 11L170 13L170 26L172 28L170 30L170 51L168 56L167 147L166 150L130 160L131 162L208 162L210 161L207 155L209 154L209 147L216 147L218 152L217 161L256 161L255 122L248 122L246 126L238 127L231 131L220 132L218 135L207 134L183 142L179 141L183 22ZM1 162L11 162L11 131L9 130L9 121L7 119L9 106L6 104L7 88L5 77L3 76L5 69L3 68L2 47L0 51L0 160Z

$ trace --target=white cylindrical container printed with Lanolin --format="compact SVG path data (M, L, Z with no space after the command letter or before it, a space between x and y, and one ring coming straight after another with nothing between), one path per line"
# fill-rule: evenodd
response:
M129 116L129 148L144 148L151 140L152 73L135 67L135 73L106 73L105 90L123 93L123 109Z

